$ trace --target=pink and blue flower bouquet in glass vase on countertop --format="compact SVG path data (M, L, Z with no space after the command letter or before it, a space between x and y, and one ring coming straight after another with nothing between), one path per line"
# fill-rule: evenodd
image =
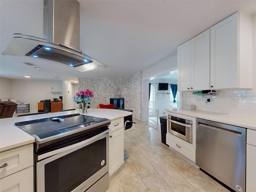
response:
M93 92L90 90L80 91L73 96L74 102L77 104L82 104L82 113L87 113L87 104L90 104L93 101Z

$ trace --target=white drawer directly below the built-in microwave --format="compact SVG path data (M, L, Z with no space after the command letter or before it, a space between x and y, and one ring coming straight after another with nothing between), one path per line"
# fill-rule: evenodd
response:
M180 140L174 136L169 137L168 143L170 148L176 150L192 162L196 162L196 148L186 144L185 141Z

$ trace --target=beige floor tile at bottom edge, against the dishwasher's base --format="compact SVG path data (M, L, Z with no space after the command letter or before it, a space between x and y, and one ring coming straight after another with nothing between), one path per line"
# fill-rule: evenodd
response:
M221 192L219 188L206 180L203 176L197 175L186 179L198 192Z

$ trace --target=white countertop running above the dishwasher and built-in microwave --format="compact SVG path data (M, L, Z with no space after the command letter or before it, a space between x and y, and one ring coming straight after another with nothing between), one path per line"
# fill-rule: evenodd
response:
M243 128L256 130L256 118L234 116L224 113L216 113L201 110L188 110L188 109L166 109L167 112L186 115L195 118L202 118L206 120L216 121L220 123L230 124Z

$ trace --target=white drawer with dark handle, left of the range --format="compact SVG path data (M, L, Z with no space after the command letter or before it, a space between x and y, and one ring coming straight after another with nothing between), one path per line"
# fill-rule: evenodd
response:
M0 168L1 179L24 168L32 166L33 144L1 152L0 166L4 165L5 163L7 166Z

